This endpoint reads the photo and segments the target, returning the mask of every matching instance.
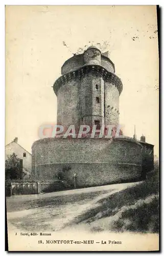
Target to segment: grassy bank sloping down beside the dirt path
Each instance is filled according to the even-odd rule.
[[[74,224],[87,223],[91,231],[156,233],[159,230],[158,184],[158,170],[154,170],[143,183],[100,200],[99,206],[78,216]]]

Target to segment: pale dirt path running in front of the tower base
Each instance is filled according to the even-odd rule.
[[[7,198],[8,225],[21,231],[61,230],[85,211],[97,207],[99,200],[138,183]]]

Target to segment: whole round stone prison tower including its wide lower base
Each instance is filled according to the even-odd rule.
[[[108,53],[91,46],[66,60],[54,83],[57,124],[101,127],[119,124],[121,79]],[[146,151],[151,149],[151,154]],[[40,181],[52,183],[64,173],[70,186],[87,187],[138,180],[149,162],[153,168],[153,145],[136,138],[45,138],[32,145],[32,171]]]

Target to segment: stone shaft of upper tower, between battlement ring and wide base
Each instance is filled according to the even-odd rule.
[[[110,82],[105,82],[104,95],[103,78],[89,73],[81,80],[68,81],[60,87],[57,108],[57,123],[66,127],[92,125],[95,120],[102,124],[104,119],[106,125],[118,124],[119,91]]]

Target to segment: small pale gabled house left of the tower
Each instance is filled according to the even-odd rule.
[[[6,159],[13,153],[15,153],[18,158],[22,159],[23,177],[28,176],[31,173],[32,155],[25,150],[24,147],[18,144],[18,138],[15,138],[5,147]]]

